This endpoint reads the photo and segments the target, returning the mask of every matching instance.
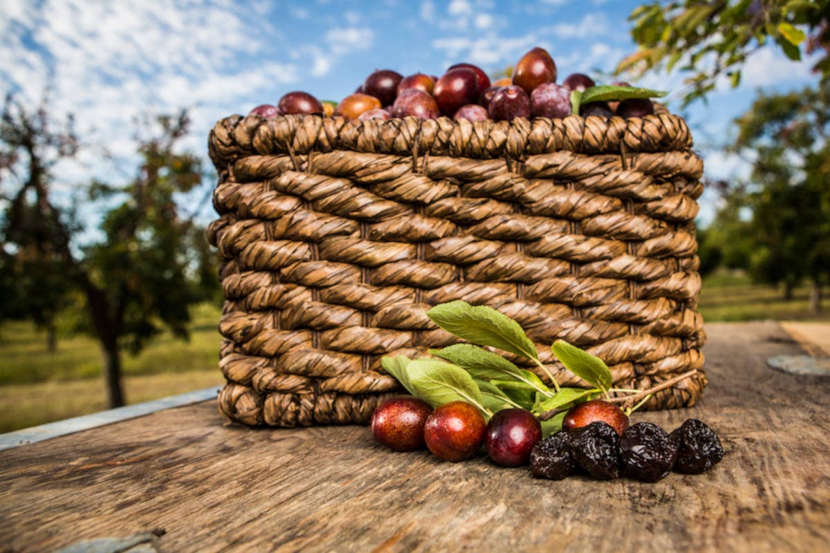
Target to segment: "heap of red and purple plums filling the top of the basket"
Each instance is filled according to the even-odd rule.
[[[376,70],[354,94],[339,104],[316,99],[306,92],[289,92],[278,104],[262,104],[251,114],[263,118],[282,114],[338,115],[345,119],[390,119],[440,115],[470,121],[511,121],[517,117],[563,118],[571,114],[571,92],[595,85],[588,75],[574,73],[556,83],[556,64],[544,48],[536,47],[515,64],[512,78],[491,83],[480,67],[469,63],[451,65],[437,77],[425,73],[403,76],[393,70]],[[613,83],[627,86],[627,83]],[[645,117],[654,113],[650,99],[622,102],[591,102],[580,106],[580,114],[611,117]]]

